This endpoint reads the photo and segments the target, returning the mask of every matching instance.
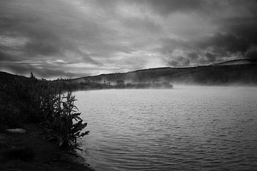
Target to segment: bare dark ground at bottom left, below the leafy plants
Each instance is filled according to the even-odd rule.
[[[28,131],[0,133],[0,170],[78,170],[92,169],[82,157],[66,150],[59,150],[53,142],[46,141],[44,129],[25,125]]]

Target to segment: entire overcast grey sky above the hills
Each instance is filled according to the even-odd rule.
[[[256,55],[256,0],[0,1],[0,71],[74,78]]]

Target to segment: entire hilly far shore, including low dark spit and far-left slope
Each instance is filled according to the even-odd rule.
[[[1,83],[10,83],[14,78],[29,79],[24,76],[0,72]],[[210,66],[150,68],[127,73],[109,73],[68,79],[63,80],[63,83],[77,88],[110,88],[117,83],[124,83],[125,85],[130,83],[170,83],[257,86],[257,63],[256,60],[244,59],[215,63]]]

